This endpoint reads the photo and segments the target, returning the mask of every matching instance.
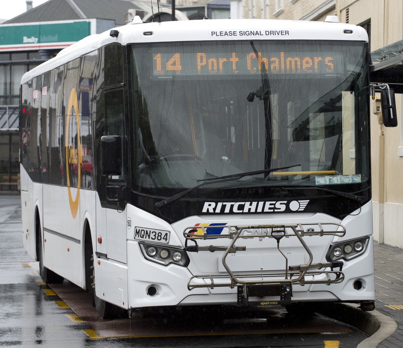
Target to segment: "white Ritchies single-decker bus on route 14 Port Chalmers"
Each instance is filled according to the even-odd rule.
[[[22,78],[23,244],[42,279],[93,289],[102,318],[372,310],[366,31],[138,22]]]

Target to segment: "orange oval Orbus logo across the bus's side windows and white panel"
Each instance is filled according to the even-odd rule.
[[[74,108],[74,116],[76,119],[76,127],[77,127],[77,136],[75,132],[73,133],[73,119],[71,120],[72,125],[70,125],[70,117],[73,116],[73,109]],[[70,93],[69,98],[69,107],[67,108],[67,115],[66,115],[66,175],[67,175],[67,188],[69,190],[69,203],[70,203],[70,210],[71,216],[73,219],[77,216],[78,210],[78,202],[80,199],[80,186],[81,186],[81,161],[83,157],[83,152],[81,150],[81,143],[80,143],[80,121],[79,121],[79,108],[78,108],[78,99],[77,99],[77,92],[73,88]],[[71,127],[71,128],[70,128]],[[71,132],[69,133],[69,129]],[[72,176],[70,177],[70,172]],[[70,181],[74,184],[77,182],[77,193],[75,200],[73,200],[73,196],[71,194],[71,185]]]

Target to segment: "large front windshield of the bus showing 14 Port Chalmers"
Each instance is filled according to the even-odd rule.
[[[369,178],[367,45],[346,41],[133,44],[133,184],[357,188]]]

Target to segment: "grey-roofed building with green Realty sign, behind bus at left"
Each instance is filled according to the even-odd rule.
[[[161,19],[170,21],[172,0],[161,0]],[[156,5],[156,4],[154,4]],[[181,6],[182,5],[182,6]],[[184,7],[183,5],[187,5]],[[154,13],[157,15],[156,6]],[[229,0],[177,0],[177,20],[229,18]],[[19,190],[19,92],[27,71],[88,35],[151,20],[150,1],[49,0],[0,24],[0,192]],[[30,134],[23,134],[29,142]]]

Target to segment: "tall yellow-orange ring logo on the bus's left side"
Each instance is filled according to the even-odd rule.
[[[70,124],[70,114],[71,108],[74,108],[75,118],[77,121],[77,148],[73,148],[72,144],[69,144],[69,124]],[[78,114],[78,99],[77,99],[77,92],[73,88],[70,93],[69,98],[69,107],[67,108],[67,120],[66,120],[66,175],[67,175],[67,188],[69,190],[69,203],[70,203],[70,210],[73,219],[77,216],[78,210],[78,203],[80,199],[80,186],[81,186],[81,161],[83,158],[83,152],[81,150],[81,143],[80,143],[80,121],[79,121],[79,114]],[[71,188],[70,188],[70,165],[73,167],[76,166],[77,168],[77,194],[75,200],[71,196]]]

